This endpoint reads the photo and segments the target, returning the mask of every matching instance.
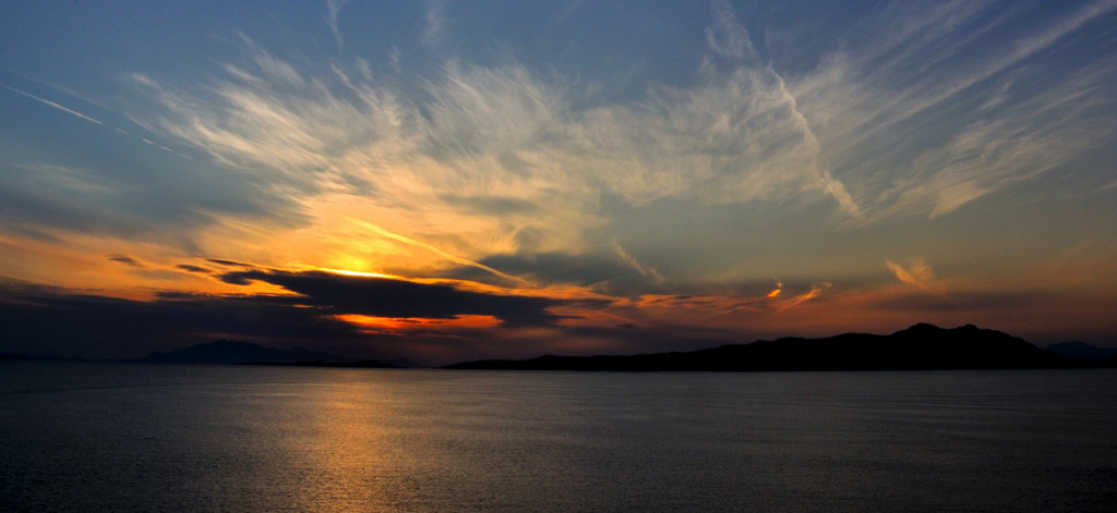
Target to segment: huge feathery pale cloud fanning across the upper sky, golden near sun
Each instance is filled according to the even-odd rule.
[[[317,225],[299,240],[332,238],[331,251],[353,252],[352,261],[381,254],[344,248],[341,226],[356,225],[337,205],[469,262],[614,253],[657,281],[677,271],[646,252],[653,240],[626,236],[618,252],[618,212],[755,204],[780,214],[829,204],[819,222],[853,226],[943,216],[1105,141],[1113,128],[1090,108],[1111,103],[1102,94],[1111,67],[1051,83],[1016,67],[1109,12],[1109,3],[1090,6],[1016,46],[982,39],[1011,10],[894,7],[895,23],[866,27],[868,42],[836,45],[818,67],[787,74],[761,61],[733,8],[716,2],[695,75],[627,100],[513,58],[450,59],[409,83],[383,79],[363,60],[332,62],[322,75],[246,40],[241,58],[204,81],[134,76],[154,106],[133,118],[314,212]],[[445,8],[427,7],[433,42]],[[975,32],[960,38],[962,27]],[[971,50],[1001,71],[978,69]],[[911,62],[926,65],[923,77],[909,76]],[[393,258],[384,265],[398,269],[403,256]],[[422,262],[432,275],[460,264]]]

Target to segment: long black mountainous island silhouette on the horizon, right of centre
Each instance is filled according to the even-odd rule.
[[[782,338],[690,352],[634,356],[479,360],[450,369],[608,371],[930,370],[1071,367],[1060,356],[1000,331],[972,325],[943,329],[915,325],[892,335],[846,333]]]

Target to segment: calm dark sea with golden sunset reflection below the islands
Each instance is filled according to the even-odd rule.
[[[0,364],[3,511],[1115,511],[1117,371]]]

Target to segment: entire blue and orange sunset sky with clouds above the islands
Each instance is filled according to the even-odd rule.
[[[0,352],[1113,347],[1114,84],[1114,0],[0,0]]]

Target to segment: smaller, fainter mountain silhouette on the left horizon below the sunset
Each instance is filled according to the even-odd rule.
[[[275,349],[249,342],[218,340],[175,349],[170,352],[152,352],[140,361],[153,364],[258,364],[258,365],[309,365],[353,364],[344,357],[309,349]]]

